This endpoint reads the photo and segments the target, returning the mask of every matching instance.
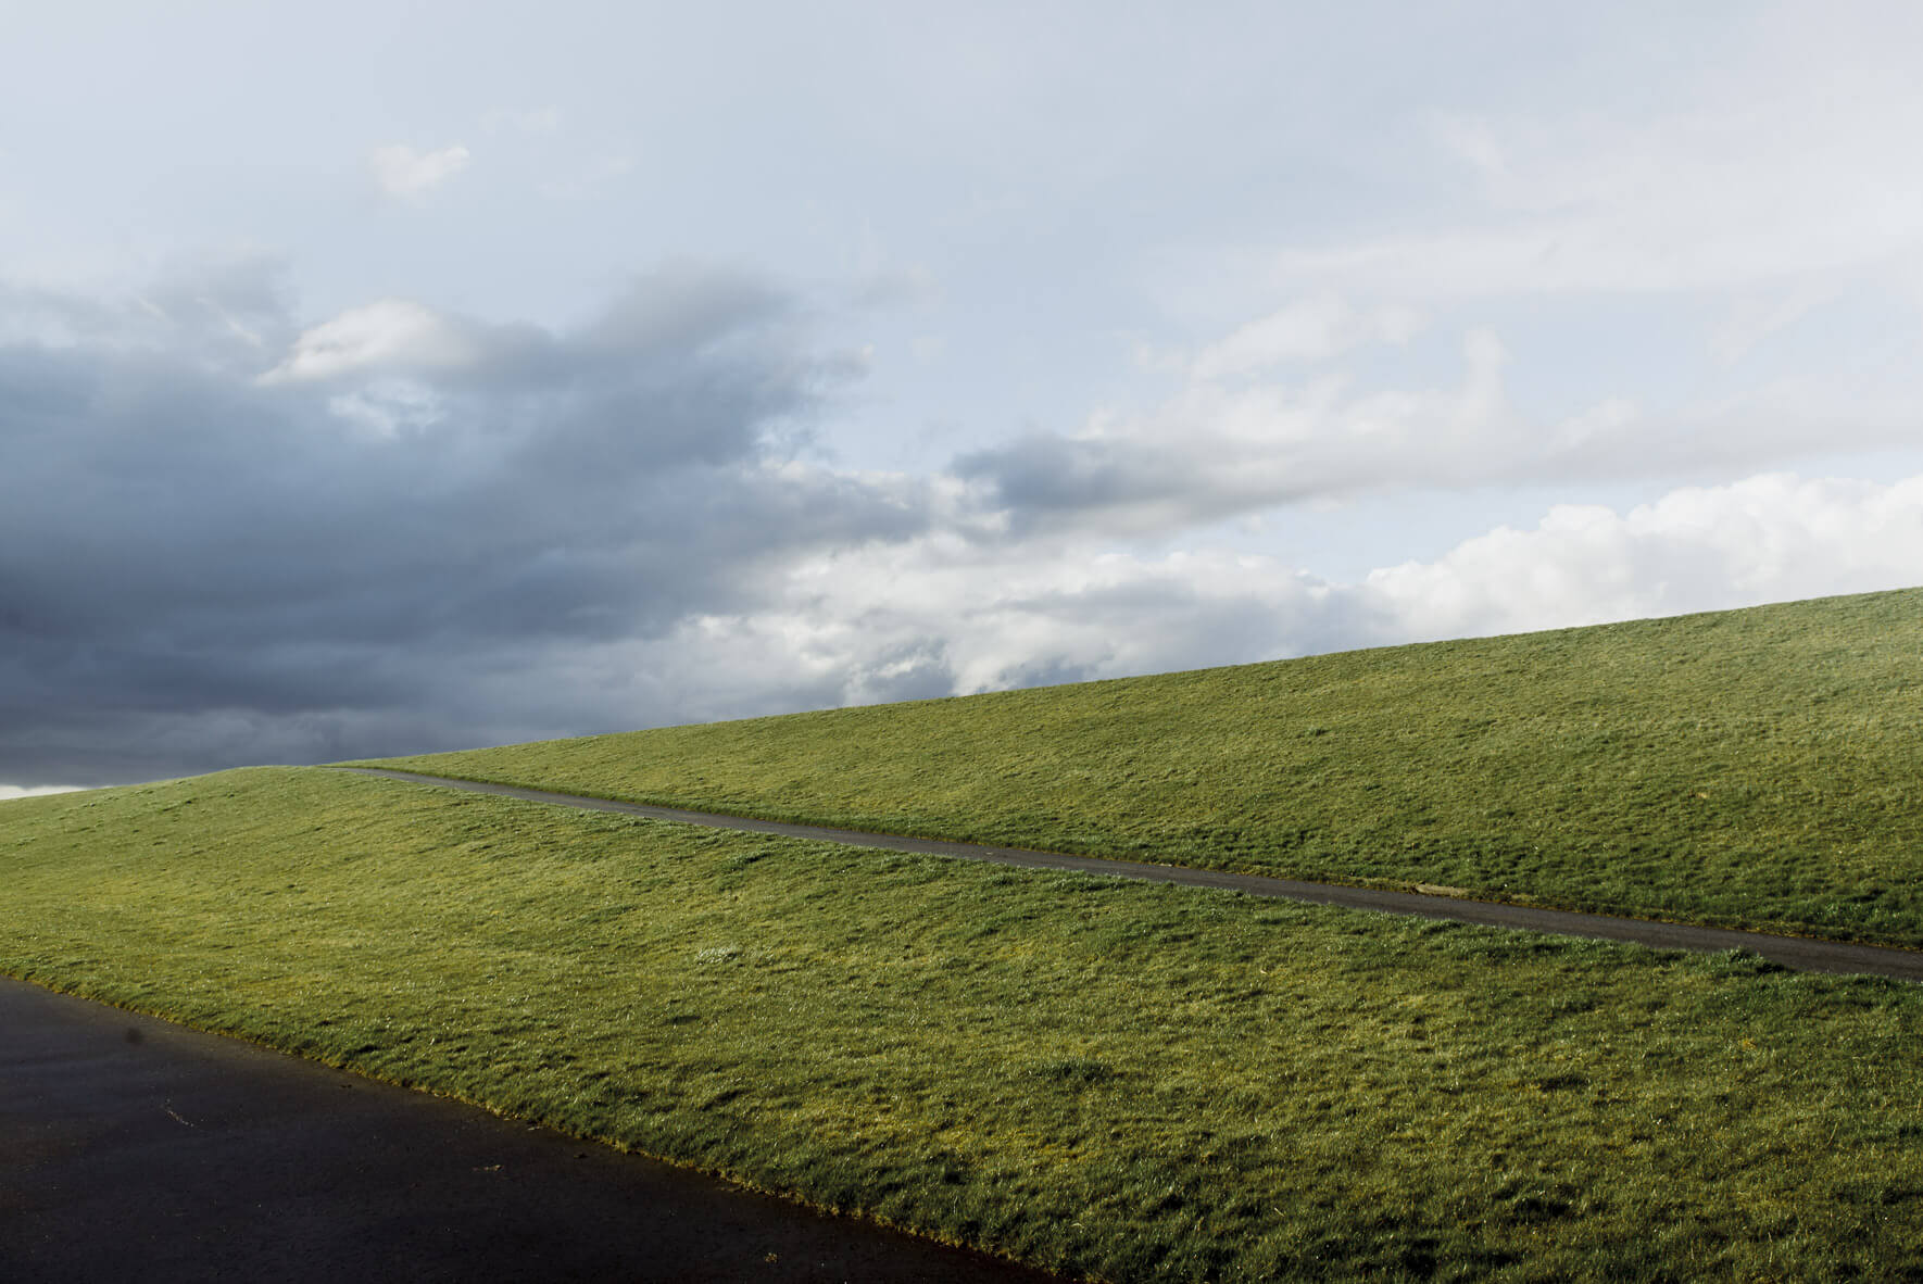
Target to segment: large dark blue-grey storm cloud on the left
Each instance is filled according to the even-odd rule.
[[[737,275],[637,281],[569,333],[435,319],[438,348],[310,373],[260,265],[0,306],[10,784],[625,725],[648,711],[546,661],[923,521],[787,459],[844,371]]]

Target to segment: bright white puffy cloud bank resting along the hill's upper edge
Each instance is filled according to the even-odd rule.
[[[1275,557],[1140,556],[1085,540],[954,534],[796,563],[777,602],[688,619],[623,663],[708,686],[696,717],[1244,663],[1923,582],[1923,477],[1760,475],[1654,504],[1556,507],[1435,561],[1327,582]],[[731,675],[717,686],[713,675]]]

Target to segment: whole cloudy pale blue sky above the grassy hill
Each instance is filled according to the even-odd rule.
[[[0,29],[0,798],[1923,582],[1913,4]]]

